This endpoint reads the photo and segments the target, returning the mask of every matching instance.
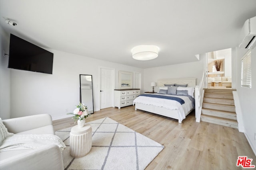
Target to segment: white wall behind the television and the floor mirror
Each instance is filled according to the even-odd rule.
[[[54,53],[52,74],[11,69],[11,117],[40,113],[49,113],[52,117],[58,117],[66,115],[66,109],[72,112],[79,102],[79,74],[92,75],[94,111],[98,111],[100,110],[100,66],[115,68],[116,88],[118,88],[119,70],[143,74],[141,68],[47,50]]]

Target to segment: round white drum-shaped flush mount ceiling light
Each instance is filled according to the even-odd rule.
[[[152,60],[158,57],[156,45],[138,45],[132,49],[132,58],[135,60]]]

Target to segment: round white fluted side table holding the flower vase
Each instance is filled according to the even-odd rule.
[[[73,158],[80,158],[88,154],[92,148],[92,127],[90,124],[84,124],[84,127],[78,125],[72,127],[70,131],[70,155]]]

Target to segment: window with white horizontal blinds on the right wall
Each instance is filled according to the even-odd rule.
[[[242,58],[241,86],[248,88],[252,87],[251,51],[248,51]]]

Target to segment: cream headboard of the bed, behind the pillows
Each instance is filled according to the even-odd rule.
[[[195,87],[196,78],[169,78],[158,80],[158,86],[164,86],[164,84],[188,84],[189,87]]]

